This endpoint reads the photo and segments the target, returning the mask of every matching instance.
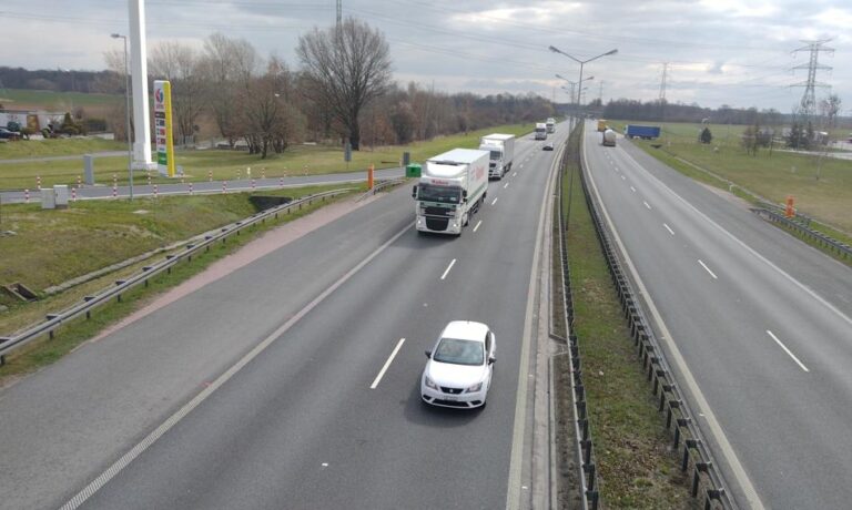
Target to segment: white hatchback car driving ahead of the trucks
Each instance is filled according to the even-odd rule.
[[[485,406],[494,371],[494,333],[481,323],[454,320],[426,351],[420,378],[423,401],[473,409]]]

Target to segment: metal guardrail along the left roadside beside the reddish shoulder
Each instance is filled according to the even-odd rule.
[[[257,223],[265,223],[270,217],[277,218],[278,214],[288,214],[291,211],[301,210],[303,206],[311,205],[315,201],[325,201],[328,197],[348,193],[352,190],[353,188],[351,187],[346,187],[305,196],[304,198],[271,207],[266,211],[253,214],[245,220],[225,225],[219,228],[217,234],[206,234],[204,235],[204,239],[200,243],[187,244],[186,249],[183,253],[176,255],[166,255],[163,261],[150,266],[144,266],[140,273],[136,273],[126,279],[116,280],[115,286],[106,288],[100,294],[85,296],[83,297],[82,302],[71,306],[70,308],[55,314],[48,314],[43,322],[28,327],[18,335],[11,337],[0,337],[0,365],[6,361],[6,355],[10,351],[22,347],[43,335],[49,335],[50,338],[53,338],[55,329],[62,326],[63,323],[67,323],[81,315],[85,315],[85,318],[89,318],[95,307],[106,304],[112,298],[121,302],[121,295],[123,293],[134,288],[138,285],[148,286],[149,279],[162,272],[171,274],[172,267],[184,258],[187,262],[192,261],[193,255],[200,253],[202,249],[209,251],[210,246],[219,241],[224,243],[232,234],[240,235],[240,231],[245,227],[255,225]]]

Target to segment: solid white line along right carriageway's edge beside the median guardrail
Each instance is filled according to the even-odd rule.
[[[582,161],[586,164],[586,167],[588,169],[589,166],[588,166],[588,161],[586,160],[586,151],[581,151],[581,152],[582,152]],[[630,154],[628,154],[627,152],[623,152],[623,154],[630,157]],[[630,159],[632,160],[632,157]],[[639,163],[636,162],[636,160],[632,160],[632,161],[636,167],[642,170],[642,166],[639,165]],[[733,476],[737,478],[737,481],[739,482],[746,496],[748,504],[755,510],[764,509],[765,507],[763,507],[763,502],[760,500],[760,496],[758,496],[757,489],[754,489],[754,486],[751,483],[751,478],[749,478],[749,475],[746,472],[746,468],[743,468],[742,462],[740,462],[740,459],[737,456],[737,452],[734,451],[733,446],[731,446],[730,441],[728,441],[728,437],[726,437],[724,430],[722,430],[722,426],[719,424],[719,420],[716,418],[716,414],[710,408],[710,404],[707,401],[707,398],[704,397],[703,391],[701,391],[701,388],[698,386],[698,381],[692,375],[692,371],[689,369],[689,366],[687,365],[687,360],[683,358],[683,354],[680,351],[680,348],[678,347],[678,345],[673,341],[671,332],[669,332],[668,326],[662,320],[662,315],[660,315],[660,310],[657,308],[657,305],[651,298],[651,295],[648,293],[648,288],[645,286],[645,282],[642,280],[641,276],[639,276],[639,272],[633,265],[632,258],[630,258],[630,255],[627,253],[627,248],[625,247],[625,244],[621,241],[621,236],[618,235],[618,231],[616,230],[615,224],[612,223],[612,218],[609,217],[609,212],[607,211],[607,207],[604,205],[604,201],[600,196],[600,192],[598,191],[598,185],[595,183],[594,172],[589,172],[589,182],[591,183],[591,190],[594,191],[595,195],[598,197],[598,203],[601,205],[601,213],[604,214],[604,217],[607,221],[607,224],[609,225],[610,232],[612,233],[612,238],[618,245],[621,255],[625,257],[625,264],[627,264],[631,274],[636,278],[636,285],[639,287],[639,293],[641,296],[643,296],[643,299],[648,304],[648,308],[651,312],[651,316],[660,327],[660,333],[662,334],[660,340],[665,341],[666,345],[668,346],[669,351],[671,353],[671,357],[673,358],[672,361],[679,368],[683,377],[683,382],[687,386],[687,389],[692,394],[692,397],[696,399],[696,404],[698,405],[697,411],[702,414],[704,419],[707,420],[707,426],[710,429],[710,434],[713,436],[713,439],[716,439],[716,441],[719,443],[719,449],[721,450],[721,455],[724,458],[724,460],[728,462],[728,465],[731,467],[731,470],[733,471]],[[683,198],[681,198],[681,201],[683,201]],[[683,202],[689,204],[686,201]],[[696,210],[694,207],[692,208]],[[696,212],[698,212],[698,210],[696,210]],[[701,214],[700,212],[698,213]]]

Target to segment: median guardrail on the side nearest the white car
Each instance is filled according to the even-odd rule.
[[[575,128],[577,129],[577,128]],[[574,136],[574,133],[569,135]],[[559,256],[561,258],[561,276],[562,276],[562,320],[568,332],[568,350],[557,354],[568,356],[568,366],[571,371],[571,400],[574,404],[575,420],[574,420],[574,436],[577,451],[577,466],[579,468],[578,479],[580,480],[580,498],[584,509],[597,510],[600,500],[600,491],[598,490],[599,480],[597,465],[595,462],[594,445],[591,442],[591,431],[589,424],[589,416],[586,405],[586,386],[582,382],[582,369],[580,368],[580,351],[577,344],[577,335],[572,333],[574,329],[574,298],[571,295],[570,284],[570,266],[568,264],[568,252],[566,241],[566,217],[565,217],[565,194],[562,193],[562,174],[568,162],[570,151],[566,147],[562,151],[562,159],[559,163]],[[576,156],[576,154],[575,154]],[[574,176],[571,176],[574,178]],[[552,358],[551,358],[552,359]],[[551,367],[552,371],[552,367]]]

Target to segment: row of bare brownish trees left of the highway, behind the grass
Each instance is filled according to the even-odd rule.
[[[123,93],[121,50],[104,54],[112,71],[98,86]],[[541,121],[554,105],[535,95],[446,93],[418,83],[393,81],[389,47],[365,22],[315,28],[300,38],[298,68],[277,55],[261,55],[245,39],[213,33],[199,50],[179,41],[153,44],[151,81],[172,83],[178,142],[191,141],[199,124],[215,125],[234,146],[266,157],[305,141],[364,145],[405,144],[503,123]],[[110,124],[116,135],[123,105]]]

